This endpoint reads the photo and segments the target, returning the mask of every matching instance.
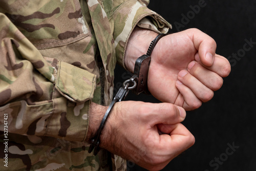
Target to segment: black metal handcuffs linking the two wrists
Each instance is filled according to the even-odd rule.
[[[151,62],[151,53],[155,48],[158,40],[165,35],[166,34],[163,33],[159,34],[154,40],[152,40],[150,47],[148,47],[146,55],[142,55],[136,60],[133,76],[130,79],[127,79],[123,82],[122,87],[118,90],[114,99],[110,103],[110,106],[108,110],[106,110],[106,113],[100,123],[99,129],[96,132],[96,135],[91,139],[91,145],[88,150],[89,153],[91,153],[94,149],[93,155],[96,156],[99,152],[101,131],[104,127],[106,119],[108,118],[114,104],[117,101],[122,101],[127,96],[130,90],[132,90],[133,93],[135,93],[136,95],[139,95],[140,93],[150,94],[150,92],[147,89],[147,74]],[[129,87],[130,85],[131,87]]]

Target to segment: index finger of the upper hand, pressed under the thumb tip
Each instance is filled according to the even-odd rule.
[[[195,59],[198,63],[200,63],[203,67],[205,67],[206,69],[217,73],[218,75],[220,75],[221,77],[227,77],[231,71],[231,66],[229,61],[218,54],[215,54],[215,60],[214,63],[212,64],[212,66],[205,66],[202,61],[200,60],[199,54],[197,53],[195,55]]]

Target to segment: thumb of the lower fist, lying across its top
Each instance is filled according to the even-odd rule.
[[[159,123],[175,124],[182,122],[186,117],[186,112],[180,106],[171,103],[147,103],[144,106],[144,112],[148,112],[148,122],[152,125]],[[148,111],[149,110],[149,111]],[[142,113],[144,113],[142,111]]]

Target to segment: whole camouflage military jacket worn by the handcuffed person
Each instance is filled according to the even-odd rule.
[[[0,170],[125,170],[88,153],[90,102],[108,105],[137,25],[167,32],[148,0],[0,1]]]

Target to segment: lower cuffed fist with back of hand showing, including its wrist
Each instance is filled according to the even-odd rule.
[[[88,138],[96,133],[105,110],[91,104]],[[100,147],[146,169],[160,170],[195,142],[180,123],[185,116],[184,109],[170,103],[117,102],[102,130]]]

